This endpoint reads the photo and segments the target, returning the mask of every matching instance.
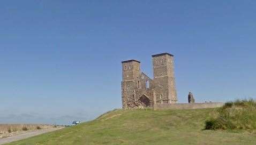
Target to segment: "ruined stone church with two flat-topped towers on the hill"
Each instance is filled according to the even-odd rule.
[[[153,107],[155,103],[177,103],[174,55],[152,55],[154,78],[140,71],[137,60],[122,61],[123,109]]]

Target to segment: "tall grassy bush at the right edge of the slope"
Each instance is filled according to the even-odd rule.
[[[256,129],[256,102],[253,99],[227,102],[218,112],[217,118],[205,122],[206,130]]]

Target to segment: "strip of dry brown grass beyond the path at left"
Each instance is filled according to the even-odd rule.
[[[0,124],[0,134],[22,131],[22,128],[27,128],[28,130],[38,130],[38,128],[52,128],[54,125],[49,124]]]

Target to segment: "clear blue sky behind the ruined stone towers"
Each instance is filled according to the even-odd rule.
[[[121,61],[175,55],[180,103],[254,98],[256,1],[1,1],[0,123],[121,108]]]

